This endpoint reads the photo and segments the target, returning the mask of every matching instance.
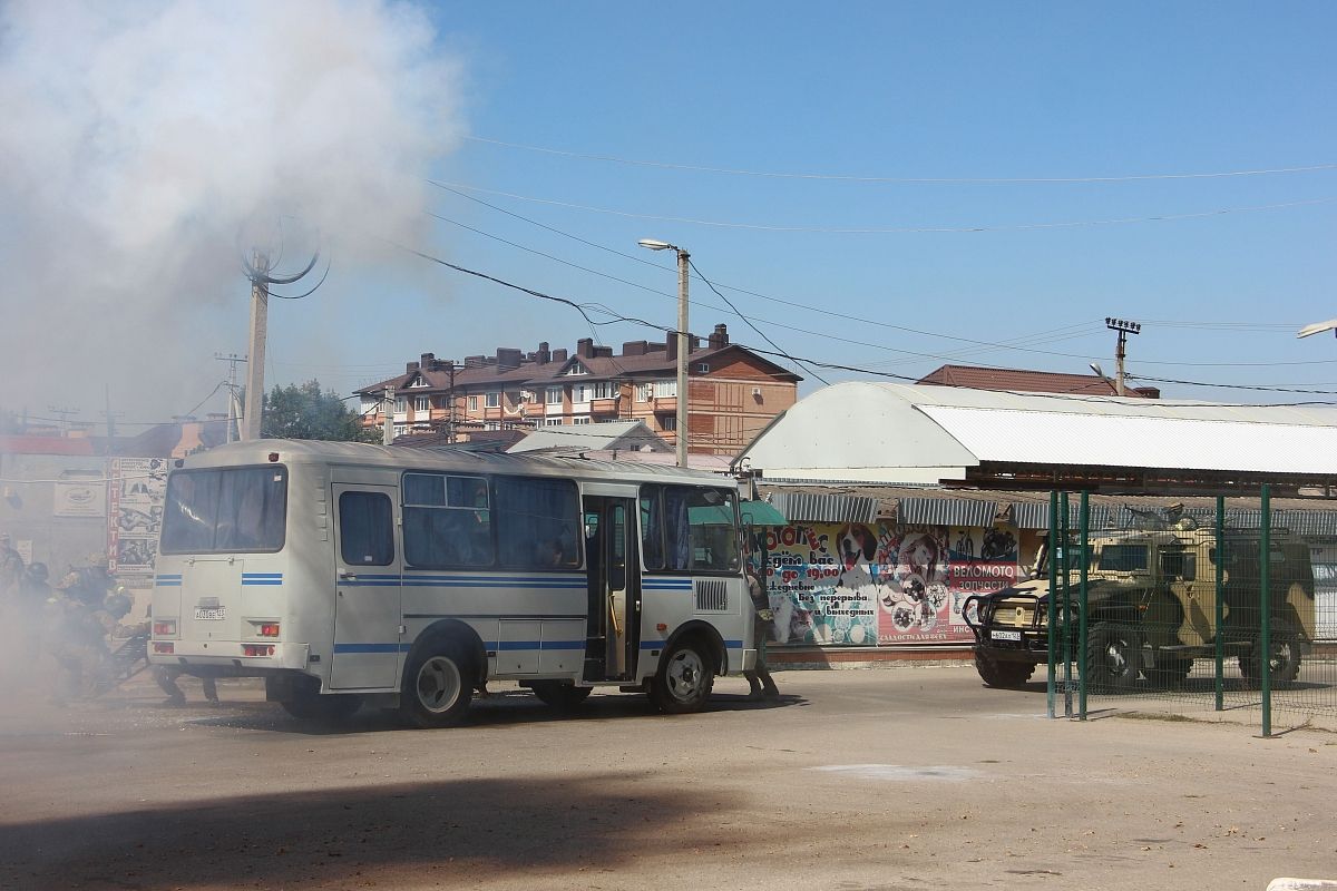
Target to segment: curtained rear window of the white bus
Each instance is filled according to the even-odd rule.
[[[283,546],[287,470],[176,470],[167,478],[162,553],[273,552]]]

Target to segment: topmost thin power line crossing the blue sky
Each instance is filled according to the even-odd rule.
[[[1271,167],[1262,170],[1231,170],[1206,174],[1132,174],[1124,176],[862,176],[852,174],[810,174],[810,172],[777,172],[762,170],[739,170],[733,167],[707,167],[702,164],[677,164],[659,160],[642,160],[634,158],[618,158],[615,155],[592,155],[560,148],[547,148],[543,146],[527,146],[523,143],[503,142],[485,136],[464,136],[464,139],[488,146],[501,146],[504,148],[520,148],[524,151],[540,152],[544,155],[560,155],[563,158],[579,158],[583,160],[599,160],[615,164],[630,164],[635,167],[658,167],[662,170],[686,170],[702,174],[727,174],[731,176],[762,176],[767,179],[820,179],[856,183],[908,183],[908,184],[1017,184],[1017,183],[1127,183],[1162,179],[1226,179],[1241,176],[1273,176],[1278,174],[1310,174],[1316,171],[1337,170],[1337,164],[1309,164],[1304,167]]]

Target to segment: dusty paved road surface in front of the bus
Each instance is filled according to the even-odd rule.
[[[0,695],[4,888],[1251,888],[1337,878],[1337,735],[1103,715],[971,668],[723,679],[701,715],[519,689],[322,732],[221,684]],[[183,681],[191,685],[193,681]],[[198,685],[187,692],[199,696]]]

